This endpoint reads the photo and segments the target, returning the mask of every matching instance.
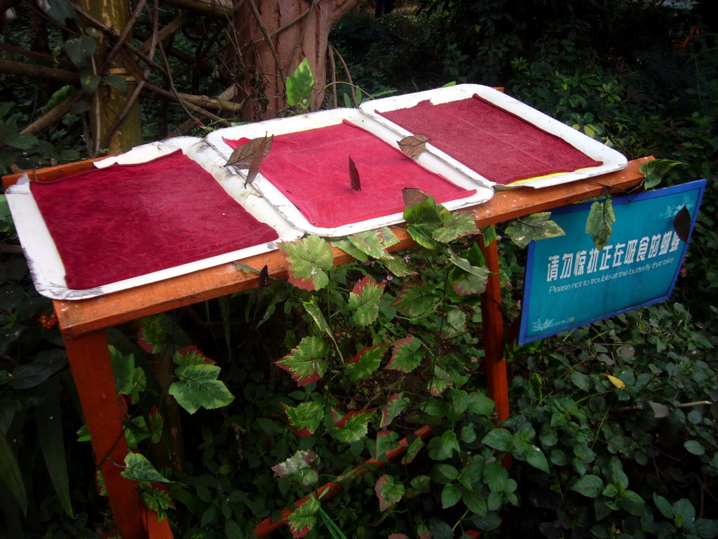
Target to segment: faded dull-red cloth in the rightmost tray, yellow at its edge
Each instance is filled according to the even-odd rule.
[[[477,95],[437,105],[426,100],[379,114],[411,133],[425,134],[435,147],[502,185],[602,165]]]

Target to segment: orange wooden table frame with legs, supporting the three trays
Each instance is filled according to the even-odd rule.
[[[590,180],[540,190],[518,188],[500,191],[490,201],[475,206],[471,211],[477,226],[483,227],[583,201],[606,192],[634,188],[643,179],[640,165],[650,159],[644,157],[633,160],[625,170]],[[37,170],[34,175],[41,181],[52,180],[91,167],[91,162],[85,161]],[[9,175],[3,178],[3,183],[7,187],[18,178],[19,175]],[[391,250],[404,249],[414,244],[406,231],[397,231],[397,236],[400,241]],[[333,249],[333,254],[335,265],[353,260],[340,249]],[[482,297],[485,369],[489,394],[496,402],[498,420],[504,420],[508,417],[509,401],[503,357],[505,343],[498,282],[498,248],[495,241],[485,249],[485,259],[489,270],[493,272]],[[241,262],[256,268],[266,264],[269,275],[286,279],[287,264],[281,252],[258,254]],[[172,538],[172,532],[167,520],[158,523],[157,515],[146,510],[136,490],[136,483],[120,475],[127,454],[122,424],[124,409],[116,394],[104,330],[147,315],[250,290],[257,284],[256,273],[238,271],[235,264],[229,263],[100,298],[53,302],[70,369],[80,395],[80,404],[88,423],[95,459],[102,471],[111,509],[123,538],[169,539]]]

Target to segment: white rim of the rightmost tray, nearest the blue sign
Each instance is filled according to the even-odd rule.
[[[547,133],[556,135],[556,137],[568,142],[574,148],[584,152],[584,154],[588,155],[593,160],[603,162],[603,165],[597,167],[577,170],[574,172],[562,172],[560,174],[543,176],[540,178],[519,180],[518,182],[514,182],[509,185],[500,185],[484,178],[478,172],[475,172],[475,170],[470,169],[466,165],[463,165],[455,160],[453,157],[447,155],[445,152],[442,152],[442,150],[432,146],[431,143],[426,144],[426,149],[428,151],[424,152],[425,154],[431,153],[432,155],[436,155],[477,182],[482,182],[486,185],[493,185],[496,190],[519,187],[541,188],[592,178],[593,176],[607,174],[607,172],[622,170],[628,166],[628,160],[625,156],[621,155],[615,149],[609,148],[605,144],[602,144],[582,132],[573,129],[571,126],[562,124],[560,121],[551,118],[551,116],[547,116],[543,112],[539,112],[531,106],[526,105],[526,103],[521,103],[521,101],[517,101],[513,97],[509,97],[505,93],[495,90],[495,88],[490,88],[489,86],[481,86],[479,84],[459,84],[457,86],[447,86],[446,88],[436,88],[434,90],[409,93],[404,96],[393,96],[376,99],[375,101],[365,101],[364,103],[361,103],[359,108],[370,118],[378,121],[383,126],[398,132],[401,134],[401,137],[406,137],[414,133],[411,133],[403,127],[394,124],[393,121],[389,121],[378,113],[395,111],[397,109],[409,109],[410,107],[415,106],[421,101],[426,101],[427,99],[432,104],[437,105],[439,103],[449,103],[450,101],[460,101],[462,99],[470,98],[474,94],[490,101],[500,109],[516,114],[516,116],[521,117],[539,129],[543,129]]]

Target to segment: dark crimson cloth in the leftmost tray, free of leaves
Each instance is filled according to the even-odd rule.
[[[279,237],[181,151],[30,188],[75,290]]]

